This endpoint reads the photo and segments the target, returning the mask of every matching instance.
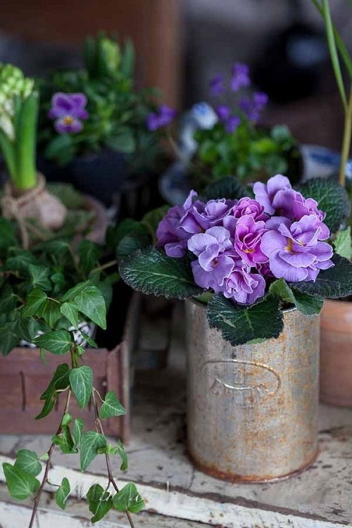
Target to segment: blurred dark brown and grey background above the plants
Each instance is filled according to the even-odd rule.
[[[332,3],[351,50],[350,8]],[[242,61],[270,97],[266,124],[287,122],[299,141],[339,149],[341,104],[310,0],[4,0],[0,61],[27,75],[80,65],[82,40],[102,29],[132,38],[138,84],[161,87],[170,106],[206,100],[209,78]]]

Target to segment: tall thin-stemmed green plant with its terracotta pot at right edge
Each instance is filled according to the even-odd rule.
[[[344,108],[345,120],[339,182],[348,189],[351,199],[351,182],[346,181],[346,163],[351,151],[352,59],[332,22],[329,1],[313,0],[313,4],[315,4],[325,21],[332,68]],[[349,83],[348,88],[345,87],[343,68]],[[349,223],[350,227],[347,227],[337,236],[334,244],[341,245],[344,256],[351,260],[351,218]],[[344,227],[346,225],[347,222]],[[347,300],[329,300],[325,303],[322,312],[320,397],[322,401],[332,405],[352,406],[351,317],[351,298]]]

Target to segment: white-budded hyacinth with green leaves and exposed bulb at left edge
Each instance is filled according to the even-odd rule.
[[[9,175],[1,209],[5,218],[18,220],[25,246],[27,220],[57,229],[66,215],[65,206],[47,191],[36,168],[38,97],[34,82],[19,68],[0,65],[0,149]]]

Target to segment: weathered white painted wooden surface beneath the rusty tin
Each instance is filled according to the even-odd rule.
[[[130,461],[127,474],[119,473],[118,460],[115,463],[120,484],[125,479],[137,482],[146,499],[147,510],[165,515],[165,523],[171,517],[175,518],[175,523],[187,520],[225,528],[352,526],[352,410],[320,406],[320,454],[315,464],[298,477],[272,484],[229,484],[194,469],[184,449],[183,329],[182,311],[177,310],[170,368],[137,373],[133,391],[132,439],[127,446]],[[145,331],[148,333],[158,341],[155,339],[156,334],[161,335],[158,323],[149,326]],[[23,447],[44,453],[49,441],[48,436],[2,435],[1,460],[6,456],[13,458],[18,448]],[[88,474],[79,471],[75,455],[56,453],[54,464],[51,482],[61,482],[65,476],[70,479],[71,487],[76,482],[81,491],[87,491],[96,479],[106,482],[105,477],[101,477],[105,474],[102,456],[96,457]],[[4,522],[1,524],[1,508],[10,515],[8,510],[13,507],[4,504],[0,507],[0,526],[17,528],[16,524],[9,527]],[[70,513],[69,506],[66,512]],[[74,519],[74,513],[72,515]],[[84,515],[87,517],[87,511]],[[134,517],[138,519],[138,515]],[[25,524],[18,524],[18,527],[22,526]],[[81,528],[85,524],[78,526]],[[165,524],[165,528],[169,526],[178,527],[172,522]],[[71,525],[67,524],[67,527],[71,528]],[[72,524],[72,527],[76,528],[76,525]],[[180,528],[183,528],[182,524]]]

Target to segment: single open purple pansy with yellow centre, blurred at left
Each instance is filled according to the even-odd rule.
[[[83,128],[82,120],[89,117],[85,109],[87,97],[84,94],[63,94],[58,92],[51,99],[49,118],[56,119],[54,127],[59,134],[75,134]]]

